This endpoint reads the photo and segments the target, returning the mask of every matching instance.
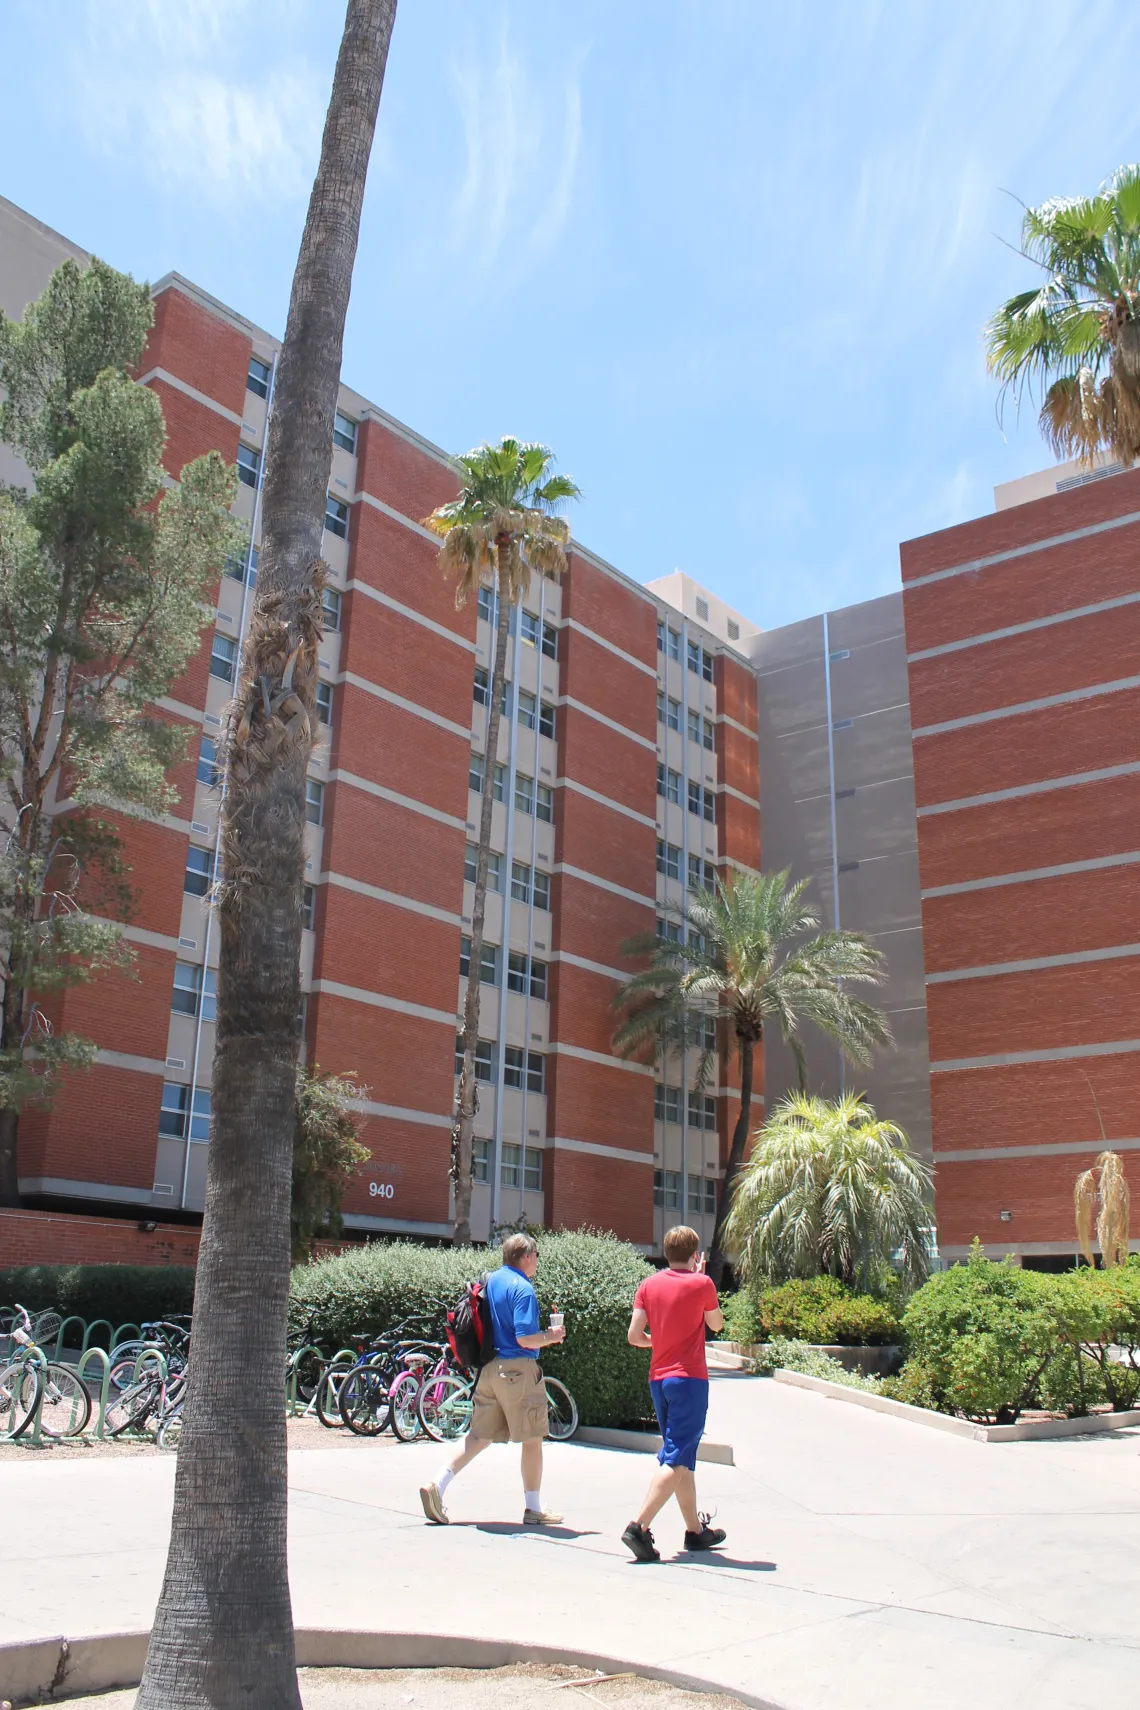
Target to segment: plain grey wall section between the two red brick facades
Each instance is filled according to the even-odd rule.
[[[902,595],[848,605],[759,636],[761,840],[764,870],[812,879],[826,927],[865,932],[887,958],[867,995],[890,1017],[896,1052],[841,1070],[837,1050],[805,1036],[808,1084],[865,1091],[930,1158],[930,1058],[918,884],[914,763]],[[832,829],[834,828],[834,829]],[[767,1108],[795,1088],[791,1053],[764,1050]]]

